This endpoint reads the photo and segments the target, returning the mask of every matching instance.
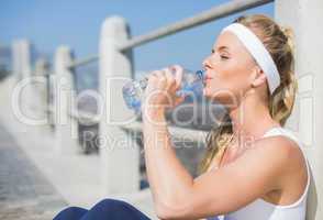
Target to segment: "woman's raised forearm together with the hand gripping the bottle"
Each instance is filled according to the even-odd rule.
[[[176,106],[182,101],[182,98],[174,99],[179,87],[180,74],[176,81],[169,72],[157,72],[149,77],[145,91],[146,101],[143,107],[145,162],[157,215],[163,213],[164,208],[169,204],[185,199],[187,190],[193,184],[193,178],[175,154],[165,119],[166,106]]]

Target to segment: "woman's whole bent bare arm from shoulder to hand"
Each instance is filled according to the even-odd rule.
[[[290,173],[288,163],[301,154],[281,136],[257,141],[215,172],[190,176],[176,157],[164,116],[164,107],[177,102],[178,86],[171,76],[160,72],[151,76],[143,107],[146,169],[158,217],[187,220],[226,213],[279,189]]]

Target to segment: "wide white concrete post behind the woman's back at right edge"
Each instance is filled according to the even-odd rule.
[[[296,38],[296,74],[299,79],[297,106],[288,125],[304,143],[312,167],[312,185],[308,199],[309,220],[323,219],[323,1],[276,0],[275,18],[293,29]]]

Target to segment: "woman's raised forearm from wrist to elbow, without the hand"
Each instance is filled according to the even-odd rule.
[[[164,112],[147,112],[143,122],[147,177],[160,217],[169,205],[187,197],[193,178],[175,154]]]

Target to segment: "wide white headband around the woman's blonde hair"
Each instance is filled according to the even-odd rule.
[[[231,31],[234,33],[245,45],[245,47],[266,74],[269,90],[270,94],[272,94],[274,90],[280,85],[280,76],[270,54],[261,41],[248,28],[240,23],[230,24],[222,30],[222,32],[224,31]]]

